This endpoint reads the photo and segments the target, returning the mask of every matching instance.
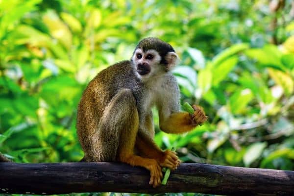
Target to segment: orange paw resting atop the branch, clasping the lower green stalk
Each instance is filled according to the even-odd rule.
[[[164,155],[159,161],[161,167],[166,167],[171,170],[175,170],[180,164],[181,161],[177,157],[176,152],[172,150],[164,151]]]

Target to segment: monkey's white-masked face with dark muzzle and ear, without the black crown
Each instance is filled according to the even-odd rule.
[[[168,52],[162,57],[155,49],[144,51],[141,48],[137,48],[132,57],[137,73],[144,79],[167,73],[174,67],[177,60],[178,56],[175,52]]]

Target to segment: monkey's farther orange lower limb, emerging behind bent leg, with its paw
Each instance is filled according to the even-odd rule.
[[[180,160],[172,150],[161,150],[142,130],[138,132],[136,138],[136,149],[144,157],[155,159],[161,167],[175,170],[180,165]]]

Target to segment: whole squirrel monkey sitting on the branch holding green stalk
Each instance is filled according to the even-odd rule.
[[[207,120],[203,109],[180,112],[179,88],[171,70],[178,56],[158,38],[140,41],[131,60],[116,63],[85,89],[77,110],[77,135],[84,161],[118,161],[150,171],[149,184],[161,183],[161,167],[176,169],[175,152],[153,141],[151,107],[159,111],[160,129],[184,133]]]

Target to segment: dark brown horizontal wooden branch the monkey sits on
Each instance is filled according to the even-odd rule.
[[[293,196],[294,172],[182,164],[166,186],[152,188],[149,172],[119,163],[0,163],[0,193],[179,193]]]

